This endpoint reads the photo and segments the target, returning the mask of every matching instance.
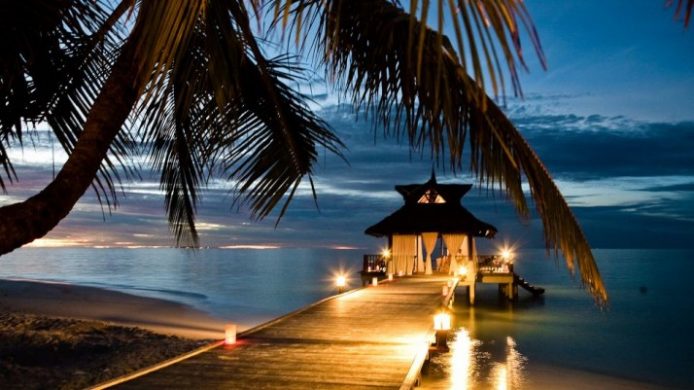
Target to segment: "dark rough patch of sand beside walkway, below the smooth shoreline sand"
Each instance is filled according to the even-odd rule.
[[[82,389],[207,344],[101,321],[0,313],[0,389]]]

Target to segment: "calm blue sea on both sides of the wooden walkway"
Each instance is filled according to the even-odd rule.
[[[610,296],[605,310],[568,275],[561,260],[546,257],[543,250],[521,251],[516,260],[517,273],[546,288],[541,299],[519,290],[518,302],[509,304],[495,286],[486,286],[469,307],[461,294],[455,303],[453,349],[466,352],[452,363],[467,364],[464,381],[485,385],[484,377],[496,375],[494,370],[505,362],[502,368],[508,371],[555,366],[694,388],[694,251],[594,253]],[[250,325],[333,294],[338,272],[347,272],[350,285],[358,286],[361,254],[29,248],[0,257],[0,278],[68,282],[175,300]]]

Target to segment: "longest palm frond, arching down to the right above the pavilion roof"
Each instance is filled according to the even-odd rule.
[[[571,271],[577,265],[583,284],[604,303],[590,246],[564,198],[521,134],[460,65],[449,40],[428,28],[410,34],[413,23],[416,31],[422,25],[389,1],[334,4],[321,19],[321,43],[354,104],[372,110],[386,132],[404,132],[413,148],[428,146],[439,161],[447,155],[454,171],[462,168],[468,141],[473,173],[487,186],[504,188],[524,217],[529,209],[521,183],[527,177],[548,248],[561,250]],[[421,56],[408,54],[414,45],[408,39],[417,40]]]

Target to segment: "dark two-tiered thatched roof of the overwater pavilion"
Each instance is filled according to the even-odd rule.
[[[424,184],[395,186],[405,205],[365,233],[376,237],[423,232],[465,233],[491,238],[496,228],[475,218],[460,204],[471,187],[470,184],[439,184],[433,173]]]

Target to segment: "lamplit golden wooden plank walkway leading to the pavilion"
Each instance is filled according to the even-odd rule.
[[[447,281],[403,278],[346,293],[118,388],[400,388],[428,348]]]

